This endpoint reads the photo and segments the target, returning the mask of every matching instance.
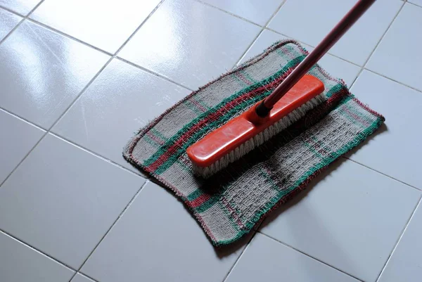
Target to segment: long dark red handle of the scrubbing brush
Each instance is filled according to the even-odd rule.
[[[359,0],[357,4],[335,25],[333,30],[315,47],[314,51],[302,60],[293,72],[281,82],[279,86],[267,98],[256,107],[257,115],[268,115],[274,104],[280,100],[296,82],[301,79],[318,60],[340,39],[347,30],[368,10],[375,0]]]

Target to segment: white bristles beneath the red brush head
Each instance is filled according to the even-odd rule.
[[[323,103],[325,101],[324,94],[320,94],[316,96],[312,100],[307,101],[307,103],[301,105],[299,108],[296,108],[291,113],[283,117],[278,122],[274,123],[263,132],[255,135],[245,143],[242,143],[241,146],[238,146],[234,150],[231,150],[230,153],[224,155],[224,157],[220,158],[212,165],[207,167],[199,167],[198,165],[192,164],[193,172],[203,178],[211,177],[213,174],[219,172],[220,170],[224,169],[225,167],[229,166],[231,162],[235,162],[246,155],[251,150],[261,146],[262,143],[271,139],[272,136],[279,134],[279,132],[283,131],[287,127],[289,127],[294,122],[297,122],[302,117],[306,115],[309,110],[312,110],[317,105]]]

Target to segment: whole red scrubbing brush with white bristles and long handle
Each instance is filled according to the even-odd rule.
[[[245,113],[207,134],[186,153],[193,172],[207,178],[305,116],[324,101],[324,84],[305,75],[375,0],[360,0],[274,91]]]

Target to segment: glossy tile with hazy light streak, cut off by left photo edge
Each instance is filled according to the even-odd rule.
[[[48,129],[108,58],[26,21],[0,44],[0,106]]]

